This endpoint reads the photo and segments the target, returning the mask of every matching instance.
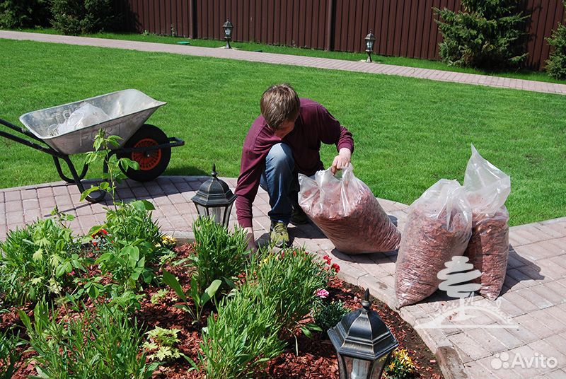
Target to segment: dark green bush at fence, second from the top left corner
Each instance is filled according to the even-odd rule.
[[[98,33],[115,25],[112,0],[52,0],[52,25],[66,35]]]

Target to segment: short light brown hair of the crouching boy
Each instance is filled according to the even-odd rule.
[[[289,84],[276,84],[267,88],[260,101],[265,122],[276,130],[285,121],[295,121],[300,107],[299,95]]]

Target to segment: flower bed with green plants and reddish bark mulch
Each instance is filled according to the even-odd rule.
[[[13,378],[337,378],[323,330],[359,308],[362,289],[338,280],[330,257],[248,256],[242,231],[202,218],[195,243],[169,250],[151,208],[115,206],[80,238],[57,212],[9,233],[0,376],[14,363]],[[403,349],[389,378],[440,378],[415,331],[373,302]]]

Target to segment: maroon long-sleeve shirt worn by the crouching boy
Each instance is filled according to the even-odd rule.
[[[337,151],[343,147],[354,151],[352,133],[316,101],[301,98],[299,118],[294,129],[283,139],[275,136],[273,129],[267,126],[260,115],[253,122],[243,143],[240,176],[236,185],[236,215],[240,226],[252,226],[252,203],[265,170],[265,157],[270,148],[279,142],[289,145],[293,151],[295,172],[309,176],[324,168],[319,153],[321,142],[335,144]]]

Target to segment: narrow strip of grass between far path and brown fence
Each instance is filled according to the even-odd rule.
[[[52,28],[45,29],[25,29],[23,31],[34,32],[34,33],[48,33],[48,34],[60,34],[57,30]],[[188,41],[192,46],[202,46],[202,47],[221,47],[226,45],[226,42],[219,40],[191,40],[189,38],[183,37],[172,37],[168,35],[154,35],[154,34],[138,34],[138,33],[96,33],[85,35],[86,37],[98,37],[98,38],[108,38],[112,40],[132,40],[141,42],[158,42],[158,43],[169,43],[176,44],[179,41]],[[354,52],[325,52],[324,50],[316,49],[305,49],[299,47],[288,47],[279,45],[265,45],[255,42],[232,42],[232,47],[236,49],[257,51],[262,52],[272,52],[277,54],[291,54],[291,55],[304,55],[308,57],[322,57],[322,58],[332,58],[332,59],[345,59],[352,61],[359,61],[366,59],[366,53],[354,53]],[[521,70],[521,71],[483,71],[478,69],[468,69],[455,66],[448,66],[443,62],[430,61],[427,59],[415,59],[415,58],[405,58],[405,57],[385,57],[382,55],[374,55],[374,62],[381,64],[395,64],[398,66],[408,66],[408,67],[418,67],[421,69],[434,69],[434,70],[444,70],[444,71],[457,71],[466,72],[468,74],[485,74],[485,75],[497,75],[504,76],[507,78],[519,78],[531,81],[547,81],[550,83],[565,83],[566,80],[558,80],[548,76],[543,71],[531,71],[531,70]]]

